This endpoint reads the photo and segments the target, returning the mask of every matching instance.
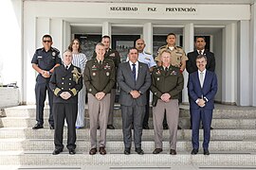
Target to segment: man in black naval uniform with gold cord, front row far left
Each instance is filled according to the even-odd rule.
[[[49,82],[53,95],[53,116],[55,121],[53,155],[63,151],[64,119],[67,122],[67,149],[69,154],[75,154],[76,120],[78,114],[78,92],[82,89],[82,73],[74,66],[72,52],[64,52],[64,65],[55,68]]]

